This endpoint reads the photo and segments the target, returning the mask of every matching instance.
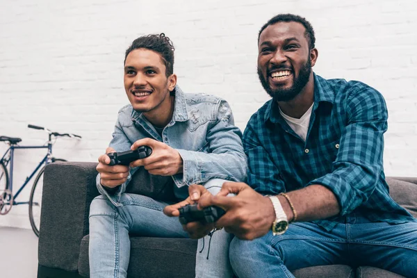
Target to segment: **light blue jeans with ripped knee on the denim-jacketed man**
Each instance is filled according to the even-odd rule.
[[[222,179],[212,179],[204,186],[212,194],[220,190]],[[114,206],[106,196],[100,195],[90,205],[90,277],[126,277],[129,266],[129,233],[139,236],[161,238],[186,238],[178,218],[163,214],[168,204],[152,198],[124,193],[122,206]],[[225,231],[215,231],[211,238],[199,240],[196,254],[196,277],[231,277],[233,272],[229,263],[229,243],[231,235]],[[199,252],[199,251],[202,252]]]

